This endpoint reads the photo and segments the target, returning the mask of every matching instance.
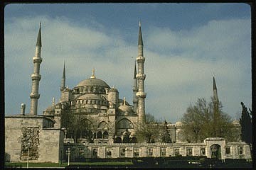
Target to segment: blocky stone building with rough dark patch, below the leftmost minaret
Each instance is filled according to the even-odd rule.
[[[42,115],[5,117],[7,162],[59,162],[64,132],[53,128],[53,121]]]

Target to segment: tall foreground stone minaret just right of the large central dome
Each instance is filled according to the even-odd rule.
[[[146,78],[146,74],[144,74],[144,62],[145,57],[143,57],[143,41],[142,41],[142,28],[141,23],[139,22],[139,42],[138,42],[138,74],[136,75],[138,80],[138,92],[136,96],[138,98],[138,116],[139,122],[145,123],[145,98],[146,93],[144,92],[144,80]]]

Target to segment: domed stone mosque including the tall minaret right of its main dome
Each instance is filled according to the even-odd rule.
[[[125,98],[119,98],[119,91],[110,86],[102,79],[97,79],[95,69],[92,69],[92,76],[82,80],[73,89],[65,86],[65,64],[63,68],[63,78],[60,85],[60,100],[58,103],[53,103],[43,112],[48,118],[55,121],[55,127],[65,127],[60,120],[61,115],[67,113],[74,116],[74,121],[79,120],[87,127],[80,132],[79,141],[89,142],[85,137],[85,131],[90,130],[93,142],[114,141],[122,142],[124,132],[128,131],[134,141],[134,126],[137,123],[145,121],[145,106],[144,98],[144,62],[143,56],[143,40],[142,29],[139,23],[139,40],[138,40],[138,57],[137,67],[134,64],[134,88],[133,91],[133,106],[130,105]],[[77,134],[76,134],[77,135]],[[69,136],[69,135],[68,135]],[[73,134],[74,136],[74,134]],[[76,139],[75,139],[76,140]]]

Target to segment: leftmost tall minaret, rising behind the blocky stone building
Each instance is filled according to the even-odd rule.
[[[33,74],[31,74],[31,79],[32,79],[32,91],[30,94],[30,98],[31,98],[30,114],[31,115],[37,115],[38,98],[40,97],[40,94],[38,94],[38,89],[39,89],[39,81],[41,80],[41,75],[39,74],[40,64],[42,62],[41,47],[42,47],[42,43],[41,43],[41,22],[40,22],[38,38],[36,41],[36,55],[35,57],[33,57],[34,71],[33,71]]]

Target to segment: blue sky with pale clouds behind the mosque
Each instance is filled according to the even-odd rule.
[[[32,57],[42,21],[38,113],[60,97],[63,62],[73,88],[95,74],[132,103],[139,21],[146,113],[175,123],[197,98],[210,101],[213,74],[223,111],[252,106],[247,4],[9,4],[4,16],[5,114],[29,113]]]

